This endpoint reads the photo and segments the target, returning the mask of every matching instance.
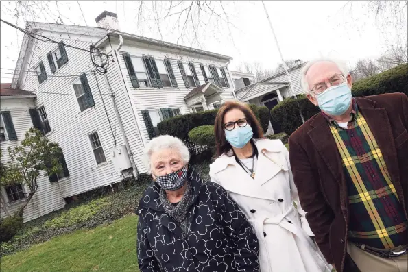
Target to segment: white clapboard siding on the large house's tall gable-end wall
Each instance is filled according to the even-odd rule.
[[[88,49],[91,42],[89,36],[83,36],[80,40],[74,41],[64,35],[62,40],[68,45],[84,49]],[[93,42],[96,40],[97,38],[93,37]],[[68,62],[58,69],[55,74],[52,74],[49,69],[47,53],[55,49],[56,46],[55,44],[37,42],[33,50],[34,60],[31,66],[34,67],[36,63],[39,62],[39,59],[43,60],[48,79],[39,85],[36,76],[30,73],[23,88],[28,91],[36,92],[36,106],[45,106],[49,124],[52,129],[52,132],[47,135],[47,138],[57,142],[62,148],[70,173],[70,177],[67,178],[67,180],[58,182],[58,184],[60,184],[62,196],[69,197],[122,180],[122,177],[119,173],[116,173],[112,165],[110,149],[115,145],[113,135],[115,135],[117,145],[123,145],[123,138],[117,124],[104,77],[96,75],[96,81],[95,76],[91,73],[93,66],[89,53],[65,47]],[[112,73],[110,73],[110,71],[112,71]],[[70,72],[78,73],[67,74]],[[79,78],[82,72],[86,72],[86,77],[95,101],[95,107],[84,110],[84,112],[80,112],[72,87],[72,83]],[[117,92],[115,99],[118,103],[118,108],[126,112],[129,110],[129,108],[123,106],[123,104],[126,103],[126,94],[121,90],[119,84],[121,77],[119,73],[117,73],[113,62],[110,63],[108,75],[112,90]],[[97,82],[99,83],[102,95],[99,93]],[[52,94],[50,94],[50,92],[52,92]],[[112,124],[113,135],[102,103],[102,97],[105,102],[110,123]],[[126,116],[130,116],[130,114]],[[122,116],[122,119],[124,123],[127,121],[125,116]],[[91,143],[88,138],[88,134],[93,132],[98,132],[107,160],[107,162],[99,165],[95,162]],[[136,133],[133,135],[137,137]],[[136,140],[133,140],[133,143],[135,142]]]

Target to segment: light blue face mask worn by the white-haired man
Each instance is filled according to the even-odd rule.
[[[350,108],[352,101],[351,90],[347,82],[327,88],[320,95],[316,95],[316,98],[319,108],[333,116],[344,114]]]

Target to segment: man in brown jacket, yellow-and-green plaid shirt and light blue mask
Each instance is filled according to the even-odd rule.
[[[353,98],[347,66],[315,60],[302,88],[316,114],[289,138],[300,203],[337,271],[408,271],[408,98]]]

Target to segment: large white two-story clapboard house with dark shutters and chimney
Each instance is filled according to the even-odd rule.
[[[230,57],[121,32],[110,12],[96,21],[100,27],[27,24],[32,34],[23,38],[11,88],[36,97],[25,110],[10,110],[18,140],[5,143],[18,144],[33,126],[27,110],[35,108],[41,121],[47,118],[45,137],[62,148],[69,176],[42,177],[25,221],[62,208],[64,199],[145,173],[141,154],[157,123],[235,98]],[[95,73],[90,45],[108,55],[106,77]]]

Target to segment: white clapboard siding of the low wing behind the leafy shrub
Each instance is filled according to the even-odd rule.
[[[0,107],[1,111],[10,111],[14,129],[16,130],[17,134],[16,141],[6,141],[1,143],[1,161],[5,163],[10,160],[10,156],[8,155],[8,147],[13,148],[16,145],[19,145],[21,140],[25,138],[25,133],[28,132],[30,127],[32,127],[29,108],[34,108],[34,98],[1,99]],[[53,210],[63,208],[65,205],[58,182],[49,182],[49,178],[47,175],[45,175],[45,173],[40,173],[37,182],[38,190],[24,209],[24,221],[35,219],[52,212]],[[29,191],[28,188],[24,188],[23,190],[25,190],[25,193]],[[8,201],[5,190],[2,190],[1,193],[3,194],[3,199]],[[7,203],[6,208],[9,214],[14,214],[22,205],[23,201],[16,201]],[[0,214],[2,218],[7,216],[4,210],[1,210]]]

